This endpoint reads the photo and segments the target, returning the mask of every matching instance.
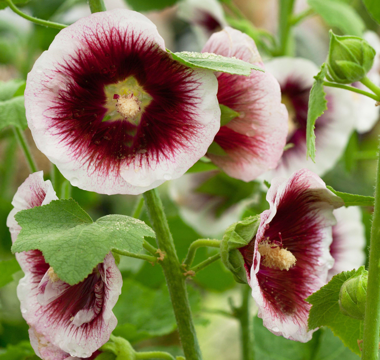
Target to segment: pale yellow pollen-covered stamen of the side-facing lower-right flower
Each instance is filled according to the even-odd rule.
[[[258,250],[266,267],[288,271],[297,261],[291,251],[269,243],[267,239],[259,244]]]

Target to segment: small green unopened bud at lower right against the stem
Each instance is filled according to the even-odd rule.
[[[339,294],[339,307],[344,315],[364,320],[367,281],[368,272],[361,266],[352,278],[343,283]]]

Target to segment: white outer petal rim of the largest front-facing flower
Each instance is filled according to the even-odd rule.
[[[57,63],[72,61],[71,57],[79,50],[88,51],[83,39],[96,28],[101,29],[103,34],[107,34],[111,28],[117,28],[119,32],[133,31],[134,34],[142,34],[166,51],[164,40],[158,34],[156,26],[137,12],[117,9],[95,13],[78,20],[56,36],[49,50],[37,59],[28,74],[25,89],[28,125],[38,149],[57,165],[73,186],[108,195],[141,194],[168,179],[178,178],[205,155],[220,126],[220,109],[216,98],[217,80],[211,71],[194,70],[193,80],[199,82],[194,91],[194,97],[199,99],[197,116],[194,118],[199,123],[198,136],[195,139],[178,149],[174,156],[166,158],[161,155],[156,164],[152,164],[151,161],[150,167],[146,157],[141,156],[141,168],[135,168],[133,165],[129,168],[124,166],[120,172],[102,176],[87,164],[72,158],[70,146],[60,143],[54,129],[49,128],[47,113],[44,110],[49,109],[51,101],[56,97],[57,86],[60,88],[65,86],[67,81],[71,81],[65,75],[57,74]],[[136,159],[136,163],[138,160]]]

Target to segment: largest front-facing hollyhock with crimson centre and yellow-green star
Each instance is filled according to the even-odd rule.
[[[144,15],[117,9],[63,29],[25,90],[34,141],[72,185],[139,194],[181,176],[219,129],[217,81],[174,61]]]

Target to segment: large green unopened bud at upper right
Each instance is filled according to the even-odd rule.
[[[326,78],[342,84],[359,81],[371,69],[375,55],[366,40],[357,36],[338,36],[330,30]]]

